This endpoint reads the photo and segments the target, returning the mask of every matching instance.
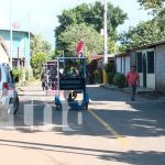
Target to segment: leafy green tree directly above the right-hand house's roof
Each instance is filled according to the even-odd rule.
[[[138,26],[130,28],[128,32],[120,35],[122,44],[120,48],[125,51],[130,47],[139,47],[162,40],[165,40],[165,31],[162,30],[156,20],[141,22]]]

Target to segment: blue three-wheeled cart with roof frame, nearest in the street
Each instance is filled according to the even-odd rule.
[[[62,109],[61,91],[69,91],[66,101],[70,109],[87,110],[89,96],[86,89],[86,57],[57,58],[56,109]],[[78,98],[81,96],[80,98]]]

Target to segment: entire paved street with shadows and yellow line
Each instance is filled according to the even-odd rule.
[[[138,97],[131,102],[129,94],[90,86],[89,111],[72,110],[66,116],[65,110],[55,110],[54,96],[46,96],[40,84],[23,89],[14,117],[15,127],[1,127],[0,130],[0,164],[164,164],[164,101]],[[25,123],[31,120],[25,121],[24,114],[31,111],[24,107],[31,103],[34,123],[28,125]],[[67,108],[65,102],[64,107]],[[52,123],[43,119],[44,108],[48,112],[53,110],[46,113],[47,118],[53,116]]]

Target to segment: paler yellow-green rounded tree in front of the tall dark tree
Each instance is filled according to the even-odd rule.
[[[85,23],[70,25],[59,35],[59,40],[67,45],[67,54],[76,55],[76,45],[79,40],[84,40],[85,54],[101,54],[103,50],[102,36],[92,28]]]

